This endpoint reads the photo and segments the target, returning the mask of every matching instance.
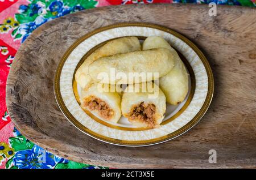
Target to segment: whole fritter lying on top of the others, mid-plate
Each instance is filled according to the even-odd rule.
[[[134,84],[158,79],[170,72],[173,66],[172,52],[156,48],[98,58],[89,65],[89,75],[96,82]],[[147,78],[141,78],[145,74]]]

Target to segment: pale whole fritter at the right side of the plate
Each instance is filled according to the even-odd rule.
[[[164,38],[147,37],[143,42],[143,50],[153,48],[167,48],[174,54],[174,67],[167,75],[159,79],[159,87],[166,95],[166,101],[172,105],[177,105],[185,99],[188,93],[187,70],[176,50]]]

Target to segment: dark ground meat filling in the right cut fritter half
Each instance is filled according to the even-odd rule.
[[[155,105],[145,104],[144,102],[142,102],[141,104],[133,108],[129,119],[131,120],[138,119],[140,121],[146,122],[148,126],[154,126],[155,125],[154,115],[155,115]]]

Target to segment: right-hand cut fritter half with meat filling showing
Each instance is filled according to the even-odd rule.
[[[127,88],[135,89],[136,85],[139,85],[139,91],[126,91]],[[166,96],[161,89],[152,82],[130,84],[127,88],[121,102],[123,116],[136,127],[159,127],[166,112]]]

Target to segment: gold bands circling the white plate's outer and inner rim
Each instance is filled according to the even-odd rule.
[[[86,38],[89,38],[93,35],[95,35],[96,33],[108,30],[108,29],[112,29],[112,28],[118,28],[118,27],[148,27],[148,28],[155,28],[155,29],[159,29],[160,31],[164,31],[167,33],[170,33],[171,35],[176,36],[177,38],[180,38],[180,40],[184,41],[188,46],[190,46],[190,48],[192,48],[196,54],[199,56],[199,58],[201,59],[201,61],[203,62],[203,65],[205,67],[205,70],[207,71],[207,76],[208,76],[208,92],[207,92],[207,97],[205,98],[204,104],[201,107],[201,109],[199,110],[199,112],[195,115],[195,117],[189,121],[186,125],[184,125],[183,127],[179,128],[179,130],[176,130],[168,135],[164,135],[160,138],[155,138],[155,139],[150,139],[150,140],[137,140],[137,141],[131,141],[131,140],[120,140],[120,139],[114,139],[114,138],[109,138],[100,134],[97,134],[96,132],[89,130],[89,128],[86,128],[85,126],[83,126],[79,121],[77,121],[77,119],[75,117],[73,117],[73,115],[69,112],[69,110],[67,109],[67,107],[64,104],[63,98],[61,97],[61,93],[60,93],[60,74],[61,74],[61,70],[63,68],[63,65],[66,61],[66,59],[68,58],[69,54],[71,54],[71,52],[73,51],[73,49],[76,48],[76,46],[78,46],[82,41],[86,40]],[[141,37],[144,38],[144,37]],[[102,42],[101,44],[98,44],[97,46],[95,46],[94,48],[90,49],[86,54],[90,54],[92,53],[95,49],[97,49],[98,47],[102,46],[105,42]],[[86,56],[86,54],[84,56]],[[86,56],[87,57],[87,56]],[[84,57],[80,60],[79,64],[76,67],[77,68],[81,65],[81,63],[84,61]],[[187,61],[187,60],[186,60]],[[189,95],[189,98],[186,102],[186,104],[188,105],[190,103],[190,101],[192,100],[193,97],[193,93],[195,92],[195,87],[193,87],[193,78],[195,78],[195,75],[193,74],[193,70],[191,73],[191,66],[188,65],[189,63],[184,61],[183,58],[183,62],[185,63],[186,67],[188,68],[189,74],[191,75],[191,93]],[[191,68],[191,69],[190,69]],[[75,70],[75,71],[76,71]],[[74,78],[73,78],[73,88],[75,87],[75,82],[74,82]],[[212,97],[213,97],[213,90],[214,90],[214,80],[213,80],[213,74],[212,74],[212,70],[210,68],[209,62],[207,61],[207,59],[205,58],[204,54],[199,50],[199,48],[197,48],[197,46],[195,44],[193,44],[193,42],[191,42],[190,40],[188,40],[188,38],[180,35],[179,33],[166,28],[166,27],[162,27],[160,25],[156,25],[156,24],[150,24],[150,23],[119,23],[119,24],[113,24],[113,25],[108,25],[106,27],[102,27],[102,28],[98,28],[95,29],[94,31],[86,34],[85,36],[82,36],[81,38],[79,38],[74,44],[72,44],[67,52],[64,53],[63,57],[60,59],[59,64],[57,65],[56,68],[56,72],[55,72],[55,77],[54,77],[54,92],[55,92],[55,97],[56,97],[56,101],[57,104],[59,105],[61,112],[63,112],[63,114],[65,115],[65,117],[77,128],[79,128],[79,130],[81,130],[82,132],[84,132],[85,134],[92,136],[93,138],[96,138],[98,140],[101,140],[103,142],[107,142],[107,143],[111,143],[111,144],[117,144],[117,145],[125,145],[125,146],[145,146],[145,145],[153,145],[153,144],[158,144],[158,143],[162,143],[162,142],[166,142],[167,140],[171,140],[176,138],[177,136],[183,134],[184,132],[187,132],[190,128],[192,128],[193,126],[195,126],[200,119],[203,117],[203,115],[207,112],[207,109],[209,108],[210,102],[212,101]],[[76,97],[76,93],[75,93],[75,97]],[[76,97],[77,100],[77,97]],[[184,107],[185,105],[183,105]],[[181,108],[179,110],[179,112],[177,112],[174,116],[172,116],[170,119],[167,119],[166,121],[164,121],[163,123],[166,124],[170,121],[172,121],[172,119],[175,119],[178,115],[180,115],[185,108]],[[181,112],[181,113],[180,113]],[[89,112],[86,112],[90,117],[92,117]],[[92,117],[93,118],[93,117]],[[94,119],[94,118],[93,118]],[[94,119],[96,121],[98,121],[98,119]],[[101,119],[99,119],[101,121]],[[104,121],[102,121],[104,122]],[[100,123],[102,123],[100,122]],[[165,123],[166,122],[166,123]],[[114,125],[110,125],[108,124],[109,127],[112,127]],[[104,123],[105,125],[105,123]],[[117,126],[120,128],[120,126]],[[127,127],[121,127],[122,128],[127,128]],[[126,129],[125,129],[126,130]],[[132,128],[130,128],[130,130],[133,130]],[[139,129],[137,129],[139,130]],[[145,130],[145,129],[142,129]]]

